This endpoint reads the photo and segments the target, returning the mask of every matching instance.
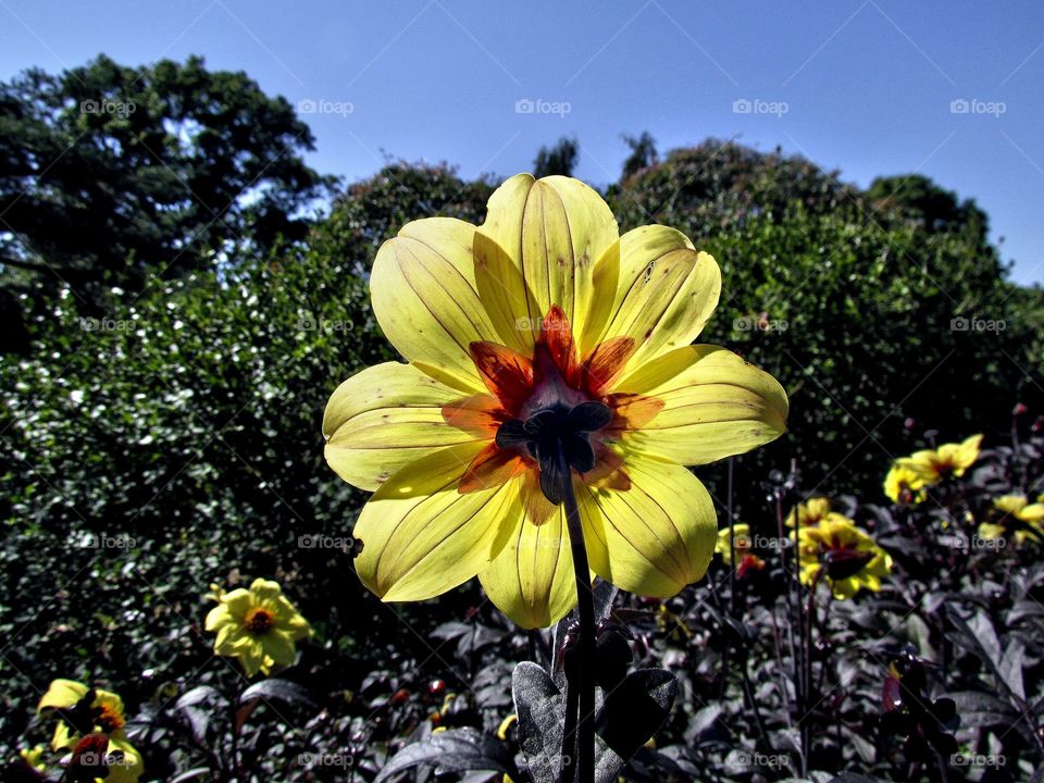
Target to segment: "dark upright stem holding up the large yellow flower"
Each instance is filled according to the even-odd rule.
[[[567,703],[577,704],[580,720],[576,725],[579,742],[574,742],[572,732],[562,737],[562,783],[571,783],[576,774],[579,783],[594,783],[595,780],[595,597],[591,587],[591,569],[587,566],[587,547],[584,545],[584,526],[580,520],[580,507],[573,492],[572,471],[566,462],[563,449],[559,447],[559,464],[567,480],[562,505],[566,508],[566,525],[569,531],[569,546],[573,554],[573,573],[576,576],[576,613],[580,616],[580,656],[573,667],[574,678],[569,679],[569,689],[580,691],[579,698],[568,698]],[[570,696],[572,694],[570,693]],[[570,718],[567,716],[567,724]],[[575,747],[575,753],[574,753]],[[574,758],[575,756],[575,758]]]

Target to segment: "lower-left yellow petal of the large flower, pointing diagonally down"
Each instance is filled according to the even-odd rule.
[[[423,600],[485,568],[522,514],[518,482],[461,495],[457,485],[482,445],[451,446],[399,471],[363,507],[356,570],[384,600]]]

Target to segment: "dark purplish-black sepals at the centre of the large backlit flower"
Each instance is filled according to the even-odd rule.
[[[591,433],[606,426],[612,411],[602,402],[588,400],[569,407],[557,402],[524,421],[509,419],[497,430],[497,446],[520,448],[540,469],[540,490],[558,506],[566,498],[572,471],[587,473],[595,467]]]

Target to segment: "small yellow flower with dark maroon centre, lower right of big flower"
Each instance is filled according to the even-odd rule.
[[[825,577],[834,598],[852,598],[860,588],[877,593],[892,571],[892,557],[850,520],[825,520],[798,530],[801,584]]]

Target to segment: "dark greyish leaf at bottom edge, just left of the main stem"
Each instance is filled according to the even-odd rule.
[[[391,757],[374,783],[419,765],[434,767],[436,775],[489,770],[519,776],[507,747],[496,737],[469,726],[438,732],[407,745]]]

